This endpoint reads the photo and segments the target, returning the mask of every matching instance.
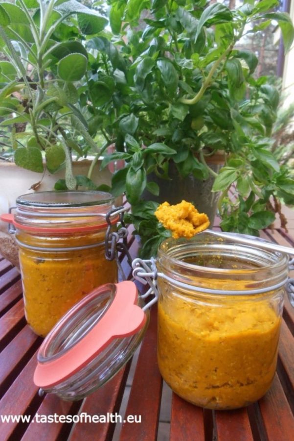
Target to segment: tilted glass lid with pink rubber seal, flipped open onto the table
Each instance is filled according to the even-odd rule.
[[[147,328],[136,285],[107,284],[76,303],[38,352],[34,383],[80,399],[108,381],[133,355]]]

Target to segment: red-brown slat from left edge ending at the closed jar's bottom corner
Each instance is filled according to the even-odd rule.
[[[22,331],[9,343],[0,353],[0,394],[7,390],[15,377],[23,368],[32,353],[40,344],[41,339],[28,327]]]

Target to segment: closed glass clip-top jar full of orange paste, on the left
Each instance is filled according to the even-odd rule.
[[[105,258],[105,216],[113,197],[103,192],[39,192],[16,202],[25,317],[45,337],[84,295],[117,282],[116,262]]]

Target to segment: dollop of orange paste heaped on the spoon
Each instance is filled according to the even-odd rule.
[[[175,239],[179,237],[190,239],[209,227],[207,215],[199,213],[193,204],[185,200],[176,205],[163,202],[158,206],[155,216],[165,228],[172,231]]]

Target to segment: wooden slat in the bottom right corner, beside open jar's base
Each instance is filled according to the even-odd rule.
[[[269,441],[290,441],[294,435],[294,416],[275,374],[271,389],[259,401]]]

